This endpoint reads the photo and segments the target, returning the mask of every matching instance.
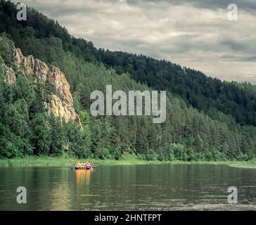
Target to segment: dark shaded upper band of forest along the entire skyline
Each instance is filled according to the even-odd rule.
[[[120,75],[129,72],[137,82],[157,90],[168,90],[213,118],[215,112],[220,111],[231,115],[241,125],[256,126],[256,101],[250,89],[241,89],[234,82],[221,82],[205,76],[202,72],[182,68],[165,60],[96,49],[91,41],[72,37],[58,22],[46,18],[33,8],[27,13],[27,21],[16,20],[16,12],[14,4],[0,1],[0,20],[4,22],[0,25],[0,33],[7,32],[11,35],[15,46],[22,49],[25,56],[31,54],[53,64],[54,58],[58,56],[53,57],[49,53],[49,43],[46,41],[42,44],[41,39],[58,37],[64,51],[71,51],[78,58],[94,63],[102,62],[115,68]],[[58,41],[52,44],[54,49],[58,48],[58,44]]]

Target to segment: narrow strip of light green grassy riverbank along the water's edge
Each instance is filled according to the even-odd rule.
[[[51,157],[27,157],[27,158],[15,158],[0,160],[0,167],[73,167],[76,162],[85,162],[89,160],[92,165],[147,165],[147,164],[208,164],[208,165],[229,165],[231,167],[240,168],[252,168],[256,169],[256,160],[248,162],[240,161],[220,161],[220,162],[208,162],[208,161],[146,161],[139,160],[134,155],[128,155],[123,160],[97,160],[97,159],[84,159],[78,160],[75,158],[51,158]]]

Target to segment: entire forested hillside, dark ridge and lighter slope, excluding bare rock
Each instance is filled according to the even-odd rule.
[[[117,160],[125,153],[146,160],[255,157],[256,98],[248,84],[221,82],[164,60],[97,50],[32,8],[27,21],[18,22],[15,5],[0,2],[0,32],[8,46],[0,46],[1,60],[15,70],[6,51],[15,45],[24,55],[60,68],[84,128],[80,130],[74,122],[61,124],[47,115],[42,104],[46,96],[27,77],[18,75],[13,85],[1,79],[0,157],[65,152],[79,158]],[[104,91],[107,84],[123,91],[167,90],[166,122],[153,124],[151,117],[92,117],[91,91]]]

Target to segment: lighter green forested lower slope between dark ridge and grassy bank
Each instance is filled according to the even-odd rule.
[[[4,45],[8,46],[4,49],[13,48],[13,44],[10,45],[6,37],[2,39],[5,40]],[[0,53],[5,58],[10,56],[3,49]],[[117,75],[115,70],[108,70],[104,65],[87,63],[69,51],[64,51],[61,47],[57,53],[61,57],[56,58],[55,63],[61,64],[68,81],[74,86],[75,109],[81,117],[84,129],[79,130],[72,122],[61,124],[61,120],[54,119],[53,115],[49,116],[47,114],[49,110],[44,107],[44,102],[48,101],[50,104],[53,100],[52,89],[42,87],[41,82],[37,85],[30,83],[29,77],[25,77],[26,73],[18,72],[17,61],[8,58],[7,61],[10,62],[10,67],[14,68],[17,80],[11,85],[1,83],[1,104],[6,105],[6,108],[1,110],[0,122],[3,129],[8,130],[6,134],[11,133],[13,139],[9,139],[2,131],[2,138],[4,138],[2,143],[15,146],[20,143],[17,139],[24,138],[30,146],[30,151],[21,151],[17,146],[14,154],[2,153],[1,156],[55,155],[56,153],[61,155],[64,153],[65,146],[69,146],[66,150],[70,154],[103,159],[119,159],[124,153],[136,153],[148,160],[226,160],[234,158],[246,160],[254,157],[255,142],[253,140],[256,135],[254,127],[241,127],[231,117],[222,113],[217,113],[218,120],[212,120],[204,113],[187,107],[184,101],[171,94],[167,99],[167,120],[164,124],[153,124],[152,118],[146,116],[92,117],[89,113],[91,91],[105,92],[107,84],[113,85],[113,91],[143,91],[150,88],[135,82],[130,75]],[[4,79],[8,80],[6,77]],[[24,86],[24,83],[27,86]],[[42,89],[46,91],[41,91]],[[6,96],[6,90],[11,96]],[[27,94],[27,90],[31,90],[31,93]],[[20,91],[20,94],[17,91]],[[48,95],[45,96],[45,93]],[[37,98],[32,97],[34,95],[37,95]],[[25,115],[23,113],[20,115],[16,108],[20,101],[23,105],[27,105],[22,111],[27,112]],[[18,110],[18,114],[8,113],[11,108]],[[27,119],[23,120],[23,117]],[[14,118],[19,119],[18,124],[27,124],[27,128],[20,127],[21,125],[18,124],[14,126]],[[6,123],[8,121],[11,123]],[[46,127],[46,124],[53,121],[55,123]],[[27,130],[32,135],[20,136],[16,126]],[[41,131],[47,132],[41,134]],[[37,136],[36,140],[34,140],[35,136]],[[58,143],[58,139],[61,140],[59,146],[53,148]],[[6,147],[3,149],[9,151]]]

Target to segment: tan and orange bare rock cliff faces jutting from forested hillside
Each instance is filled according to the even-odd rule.
[[[23,75],[39,79],[40,82],[49,82],[53,87],[51,93],[51,105],[46,105],[49,113],[53,112],[60,121],[74,120],[81,124],[78,115],[75,113],[72,94],[70,93],[70,85],[65,75],[58,68],[49,67],[46,63],[41,62],[33,56],[23,56],[20,49],[13,52],[15,65],[19,72]],[[4,69],[4,80],[8,84],[15,83],[15,72],[12,68],[8,68],[2,63]]]

